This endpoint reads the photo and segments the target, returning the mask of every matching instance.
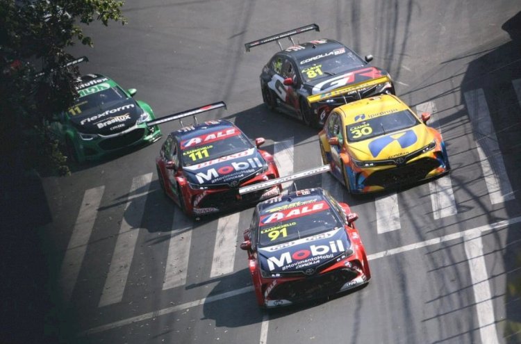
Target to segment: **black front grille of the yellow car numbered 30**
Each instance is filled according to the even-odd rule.
[[[412,183],[425,178],[425,176],[439,167],[436,159],[422,158],[413,163],[408,163],[396,168],[377,171],[365,179],[365,186],[395,186],[402,183]]]

